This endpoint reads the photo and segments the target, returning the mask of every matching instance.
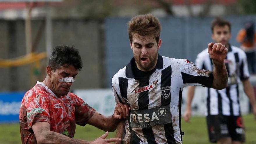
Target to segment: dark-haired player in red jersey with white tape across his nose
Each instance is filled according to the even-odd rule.
[[[129,113],[127,105],[119,104],[112,116],[105,117],[83,99],[69,93],[81,69],[82,61],[77,49],[69,46],[53,49],[45,80],[38,81],[22,99],[19,111],[22,144],[106,144],[121,141],[120,138],[105,139],[108,132],[94,141],[73,139],[76,124],[114,131],[120,119]]]

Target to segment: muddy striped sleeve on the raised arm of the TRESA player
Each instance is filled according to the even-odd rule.
[[[209,88],[212,86],[212,72],[209,70],[199,69],[187,59],[181,59],[180,72],[180,83],[182,89],[186,86],[201,85]]]

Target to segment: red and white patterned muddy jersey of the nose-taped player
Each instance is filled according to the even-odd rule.
[[[85,126],[95,109],[73,93],[57,97],[45,84],[37,84],[25,93],[19,111],[22,144],[36,144],[34,122],[48,122],[51,131],[74,137],[76,124]]]

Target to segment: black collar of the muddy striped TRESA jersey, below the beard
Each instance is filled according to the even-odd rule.
[[[131,63],[133,63],[134,61],[135,61],[135,58],[133,57],[133,58],[131,58],[131,61],[128,63],[128,65],[126,65],[125,76],[128,78],[134,78],[134,74],[131,69]],[[157,56],[157,65],[155,68],[156,69],[163,68],[163,57],[160,54],[158,54],[158,56]]]

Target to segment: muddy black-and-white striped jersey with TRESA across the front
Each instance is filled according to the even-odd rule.
[[[211,87],[213,75],[186,59],[158,55],[153,72],[135,77],[135,59],[112,78],[117,103],[128,104],[124,144],[181,144],[182,89],[189,85]]]

